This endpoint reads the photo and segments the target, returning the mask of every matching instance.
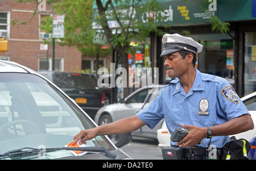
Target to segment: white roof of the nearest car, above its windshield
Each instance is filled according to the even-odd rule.
[[[33,73],[36,72],[26,66],[20,65],[16,62],[0,60],[0,73],[14,72],[14,73]]]

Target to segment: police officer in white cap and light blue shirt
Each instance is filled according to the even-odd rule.
[[[179,34],[165,34],[162,41],[161,56],[168,76],[174,80],[137,115],[82,130],[74,137],[74,144],[80,139],[80,143],[85,143],[98,135],[132,132],[146,124],[154,128],[163,118],[170,134],[176,127],[189,130],[183,140],[171,142],[181,147],[207,148],[211,140],[210,144],[222,148],[230,141],[228,135],[254,128],[249,112],[229,82],[195,69],[196,55],[203,48],[201,44]]]

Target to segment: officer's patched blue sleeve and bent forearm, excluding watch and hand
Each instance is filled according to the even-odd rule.
[[[217,100],[217,113],[228,121],[210,127],[214,136],[234,135],[254,128],[249,111],[227,81],[220,81]]]

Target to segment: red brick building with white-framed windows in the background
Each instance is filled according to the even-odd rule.
[[[46,6],[46,10],[33,17],[35,9],[38,6],[34,3],[0,1],[0,37],[9,41],[9,51],[0,53],[0,59],[15,61],[34,70],[45,70],[48,59],[51,70],[52,45],[48,45],[48,51],[40,49],[45,33],[39,26],[43,18],[56,12]],[[26,24],[14,24],[19,22]],[[55,70],[73,72],[81,66],[82,54],[76,47],[62,47],[55,43]]]

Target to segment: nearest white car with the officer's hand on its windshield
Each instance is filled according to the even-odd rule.
[[[130,159],[118,147],[131,141],[131,133],[113,137],[118,147],[108,136],[86,141],[85,147],[65,147],[81,130],[94,127],[93,119],[48,79],[0,60],[0,159]]]

